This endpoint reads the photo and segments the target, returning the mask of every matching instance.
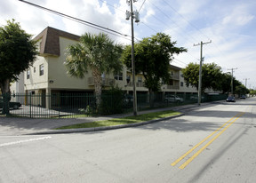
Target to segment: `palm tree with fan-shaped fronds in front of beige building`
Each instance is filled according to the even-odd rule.
[[[85,33],[79,43],[69,45],[67,59],[68,75],[84,78],[88,70],[92,70],[95,84],[97,107],[100,107],[102,90],[102,74],[118,73],[123,68],[120,60],[123,48],[115,44],[106,34],[92,35]]]

